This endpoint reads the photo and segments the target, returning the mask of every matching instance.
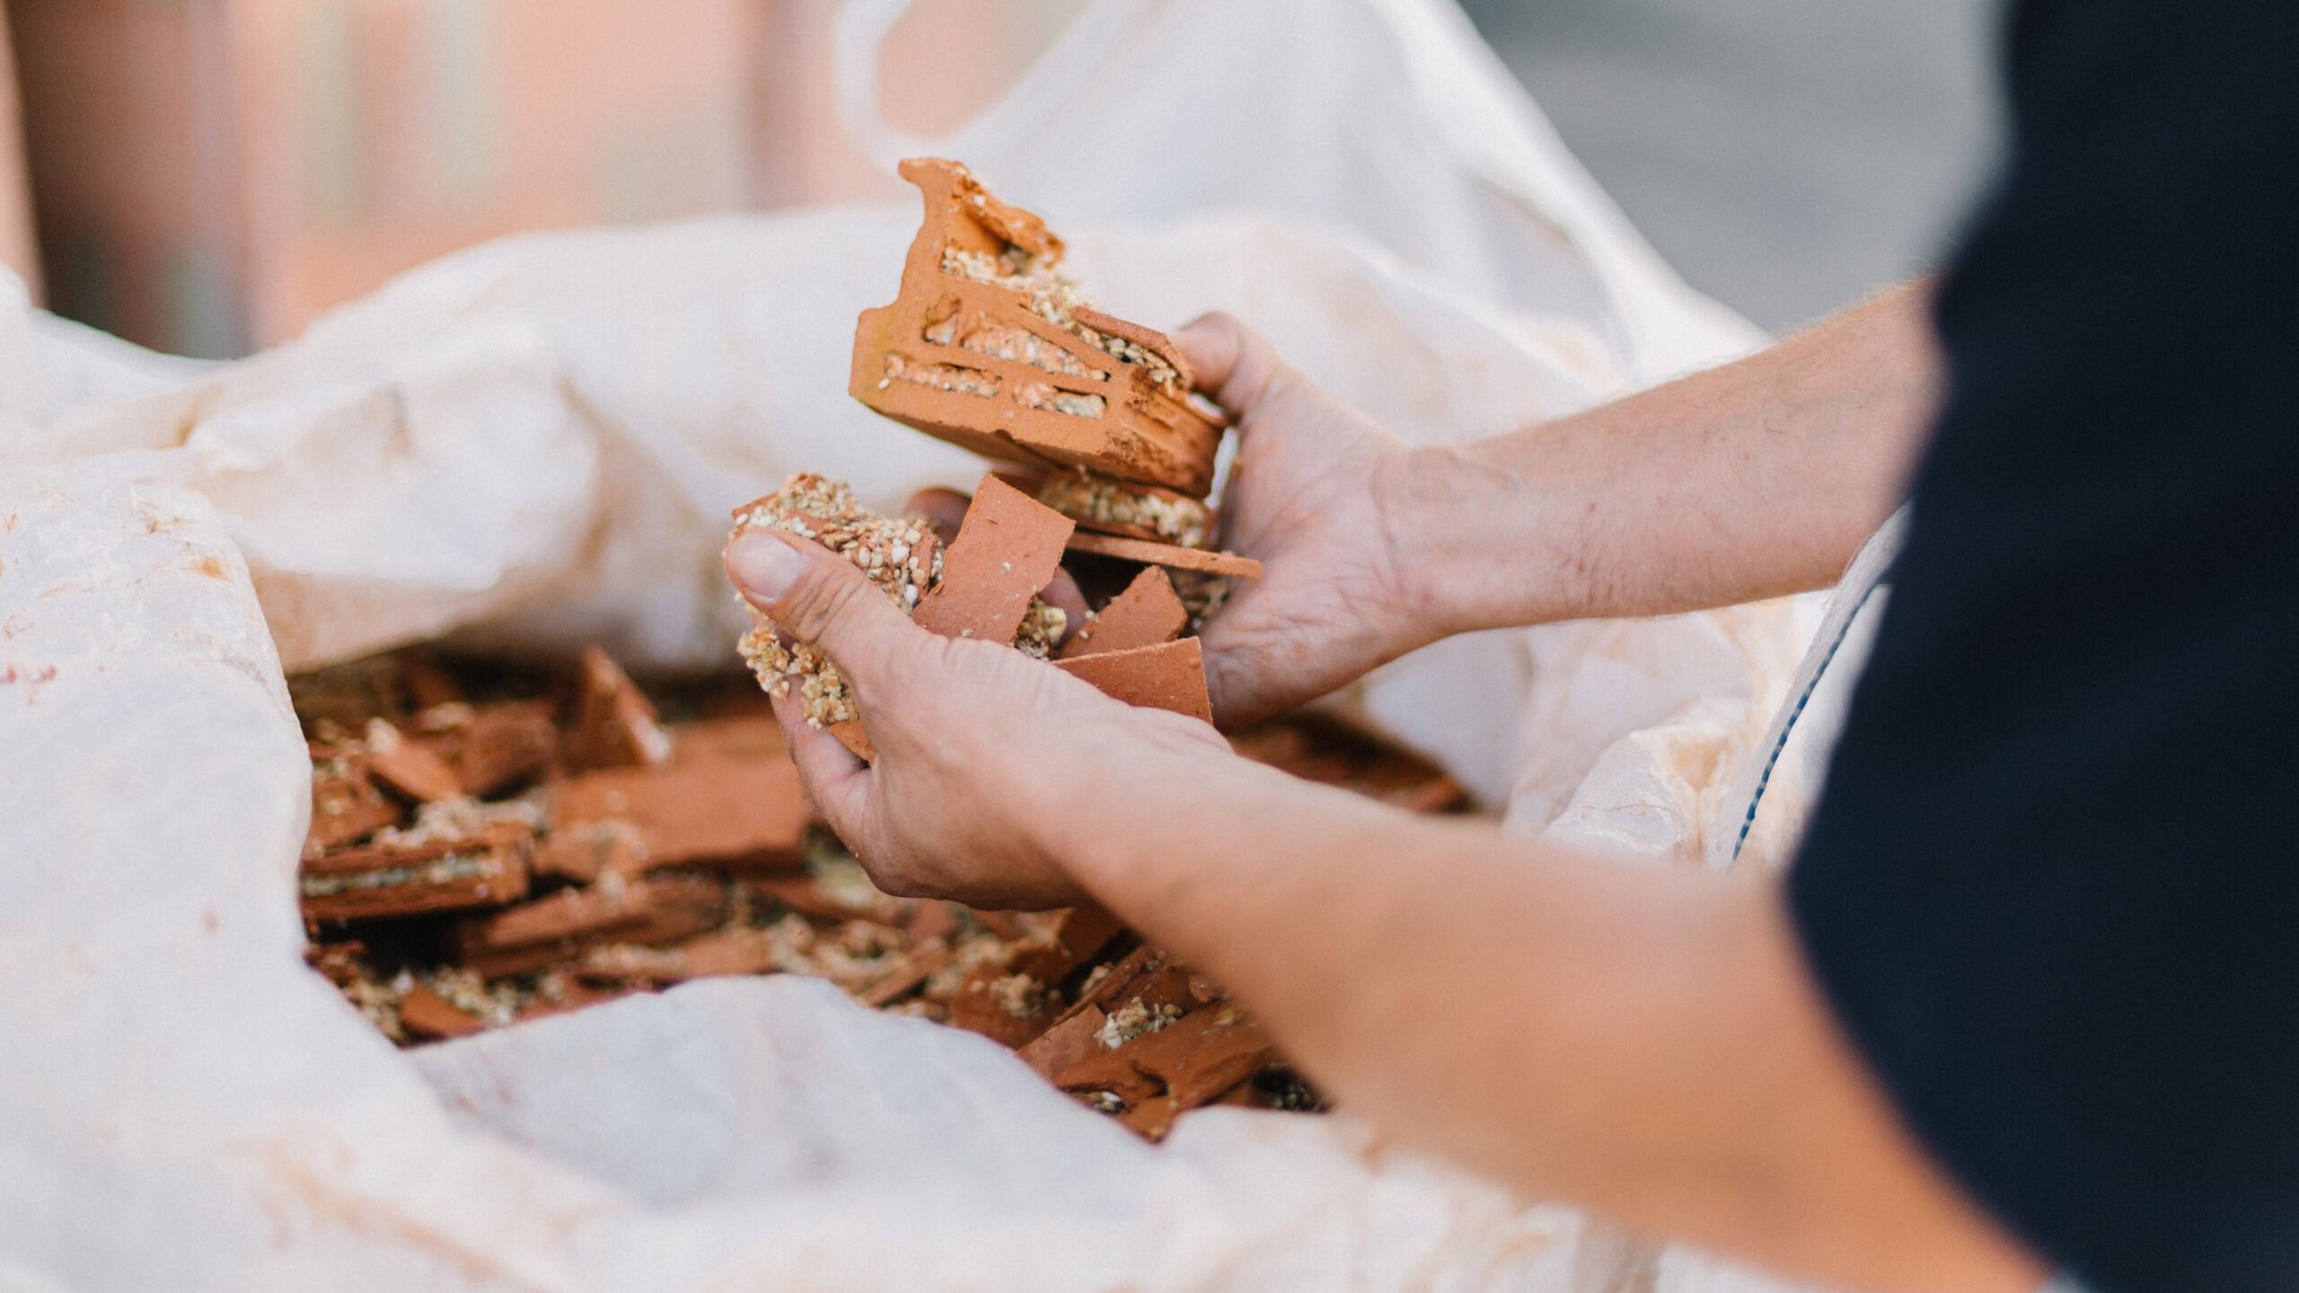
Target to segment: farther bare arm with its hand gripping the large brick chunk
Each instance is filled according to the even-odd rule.
[[[1274,713],[1451,633],[1835,582],[1940,398],[1929,294],[1448,449],[1407,449],[1235,320],[1193,324],[1177,341],[1244,433],[1225,538],[1269,568],[1207,628],[1216,713]]]

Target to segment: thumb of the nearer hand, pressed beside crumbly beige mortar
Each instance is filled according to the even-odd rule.
[[[775,628],[830,656],[858,693],[924,633],[853,561],[772,529],[747,529],[726,545],[726,577]]]

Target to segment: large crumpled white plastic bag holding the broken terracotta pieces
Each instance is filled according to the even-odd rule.
[[[1428,113],[1393,46],[1347,25],[1412,7],[1331,12],[1359,14],[1336,39],[1361,41],[1366,92]],[[1113,311],[1232,308],[1414,439],[1612,396],[1632,370],[1607,338],[1653,322],[1625,297],[1478,299],[1333,228],[1097,228],[986,177],[1074,235]],[[1561,1293],[1653,1270],[1347,1116],[1216,1109],[1152,1150],[991,1042],[814,982],[692,985],[402,1056],[301,966],[308,764],[283,667],[439,633],[729,663],[733,502],[800,467],[881,506],[979,474],[844,396],[853,315],[892,294],[915,219],[515,239],[218,368],[0,301],[0,1288]],[[1520,828],[1687,860],[1796,646],[1789,607],[1492,633],[1350,699]]]

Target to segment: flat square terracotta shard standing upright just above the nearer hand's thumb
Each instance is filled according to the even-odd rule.
[[[943,637],[1014,642],[1030,598],[1062,568],[1062,545],[1074,529],[1067,515],[982,476],[956,543],[943,552],[943,582],[917,603],[913,619]]]

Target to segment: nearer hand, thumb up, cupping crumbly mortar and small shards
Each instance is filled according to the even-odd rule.
[[[830,550],[754,529],[726,575],[779,630],[839,667],[878,762],[772,695],[800,778],[885,893],[1012,911],[1083,897],[1062,858],[1115,796],[1177,794],[1235,759],[1205,722],[1115,702],[993,642],[936,637]]]

